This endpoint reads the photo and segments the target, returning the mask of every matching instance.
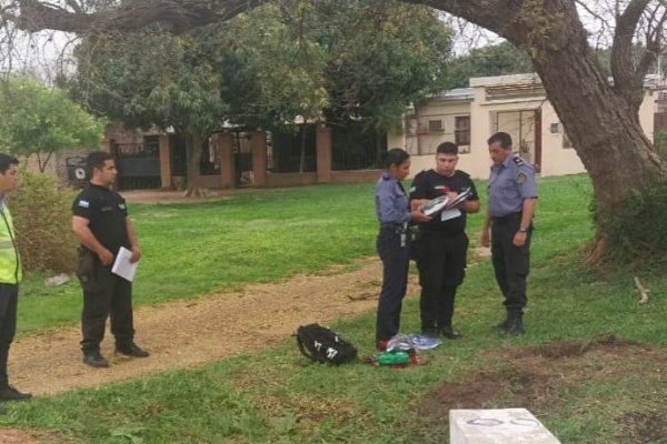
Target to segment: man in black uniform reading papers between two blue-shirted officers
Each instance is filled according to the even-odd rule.
[[[462,191],[470,190],[470,196],[457,208],[419,224],[418,241],[414,245],[421,285],[421,333],[450,340],[461,337],[451,325],[451,317],[456,290],[466,273],[466,214],[479,211],[475,183],[469,174],[456,169],[457,163],[458,147],[451,142],[441,143],[436,150],[436,168],[417,174],[410,188],[410,208],[414,210],[428,200],[447,195],[451,201]]]

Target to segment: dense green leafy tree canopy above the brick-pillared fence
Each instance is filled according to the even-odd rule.
[[[389,128],[444,85],[451,30],[392,1],[269,3],[172,36],[88,38],[72,91],[131,127],[206,137],[223,121],[271,129],[298,117]]]

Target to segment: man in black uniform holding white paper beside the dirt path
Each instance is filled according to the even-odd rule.
[[[81,242],[80,261],[86,263],[88,259],[92,265],[86,275],[80,275],[83,287],[81,351],[83,363],[108,367],[109,362],[100,354],[100,343],[109,315],[116,352],[132,357],[149,355],[135,344],[132,283],[111,272],[121,246],[132,252],[131,262],[139,261],[141,250],[125,199],[110,189],[117,175],[113,157],[102,151],[91,152],[87,167],[90,183],[72,203],[72,230]]]

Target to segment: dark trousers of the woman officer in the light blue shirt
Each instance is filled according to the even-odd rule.
[[[400,329],[400,310],[408,289],[410,265],[409,240],[395,226],[381,226],[377,239],[377,251],[382,260],[382,290],[378,302],[376,343],[389,340]]]

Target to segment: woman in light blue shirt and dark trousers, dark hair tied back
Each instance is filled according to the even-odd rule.
[[[408,222],[428,222],[420,209],[410,211],[400,181],[410,172],[410,155],[400,148],[385,157],[385,172],[376,184],[376,215],[380,224],[377,251],[382,261],[382,290],[378,302],[376,345],[382,349],[400,326],[400,310],[408,286]]]

